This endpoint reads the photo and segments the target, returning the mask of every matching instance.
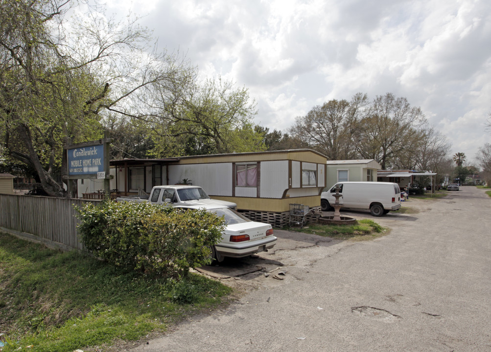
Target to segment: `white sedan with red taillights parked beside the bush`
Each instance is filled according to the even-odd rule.
[[[186,208],[200,207],[203,205],[193,205]],[[208,205],[205,208],[207,211],[217,214],[218,217],[223,216],[226,224],[221,238],[211,249],[214,260],[221,262],[224,257],[245,257],[268,251],[276,244],[277,238],[273,236],[271,225],[251,221],[226,206]]]

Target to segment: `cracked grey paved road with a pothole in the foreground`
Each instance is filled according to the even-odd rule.
[[[131,351],[491,351],[491,199],[404,206],[419,212],[377,218],[391,232],[369,242],[276,231],[274,251],[228,264],[248,272],[221,279],[237,302]]]

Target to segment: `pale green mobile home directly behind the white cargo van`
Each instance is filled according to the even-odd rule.
[[[328,160],[327,187],[341,181],[377,181],[377,172],[382,166],[375,159]]]

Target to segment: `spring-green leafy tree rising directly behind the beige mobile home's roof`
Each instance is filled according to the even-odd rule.
[[[181,83],[169,90],[154,85],[159,107],[151,116],[137,117],[152,131],[158,156],[176,156],[183,149],[173,150],[171,146],[189,142],[186,148],[192,153],[264,150],[262,135],[253,127],[255,102],[246,88],[236,88],[233,82],[220,77],[202,81],[196,69],[188,72]],[[196,142],[194,147],[192,141]]]

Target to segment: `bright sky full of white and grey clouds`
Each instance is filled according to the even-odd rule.
[[[471,161],[491,141],[490,0],[108,1],[145,16],[161,48],[245,86],[270,130],[331,99],[391,92],[422,108],[451,154]]]

